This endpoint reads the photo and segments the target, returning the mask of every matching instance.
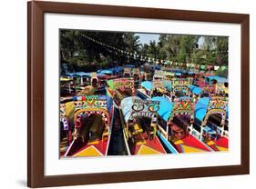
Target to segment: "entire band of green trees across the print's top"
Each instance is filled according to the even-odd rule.
[[[159,35],[159,41],[139,44],[135,33],[61,30],[60,57],[61,62],[71,63],[75,70],[87,68],[88,71],[95,66],[99,69],[132,61],[138,63],[147,57],[199,65],[228,65],[228,37]]]

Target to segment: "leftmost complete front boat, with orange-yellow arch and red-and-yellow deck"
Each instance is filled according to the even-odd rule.
[[[87,96],[73,96],[72,99],[68,99],[69,102],[72,101],[74,110],[74,138],[73,142],[69,145],[64,156],[97,156],[106,155],[108,153],[108,144],[110,138],[110,127],[112,124],[111,116],[113,115],[113,104],[108,103],[108,96],[106,95],[87,95]],[[81,132],[81,118],[83,115],[100,114],[97,119],[97,125],[93,125],[89,129],[93,134],[85,144],[85,137],[82,134],[81,138],[78,137]],[[114,116],[114,115],[113,115]],[[95,122],[94,122],[95,123]],[[100,126],[101,125],[101,126]],[[101,130],[102,129],[102,130]],[[85,132],[85,131],[84,131]],[[91,137],[91,136],[89,136]],[[81,140],[77,140],[80,138]],[[88,139],[88,138],[87,138]]]

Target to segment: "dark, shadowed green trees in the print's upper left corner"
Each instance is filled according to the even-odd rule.
[[[139,46],[134,33],[60,31],[61,60],[71,63],[76,70],[124,64],[129,60],[125,51],[138,52]]]

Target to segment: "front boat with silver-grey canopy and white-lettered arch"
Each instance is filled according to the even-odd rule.
[[[158,102],[141,100],[138,96],[122,100],[120,112],[124,115],[124,136],[130,154],[166,154],[157,136],[158,105]],[[150,118],[151,123],[147,124],[146,130],[137,123],[139,117]]]

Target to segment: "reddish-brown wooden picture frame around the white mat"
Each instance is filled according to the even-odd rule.
[[[104,184],[249,174],[249,15],[32,1],[27,5],[27,185]],[[44,174],[44,14],[106,15],[241,25],[241,164],[101,174]],[[100,178],[100,179],[99,179]]]

